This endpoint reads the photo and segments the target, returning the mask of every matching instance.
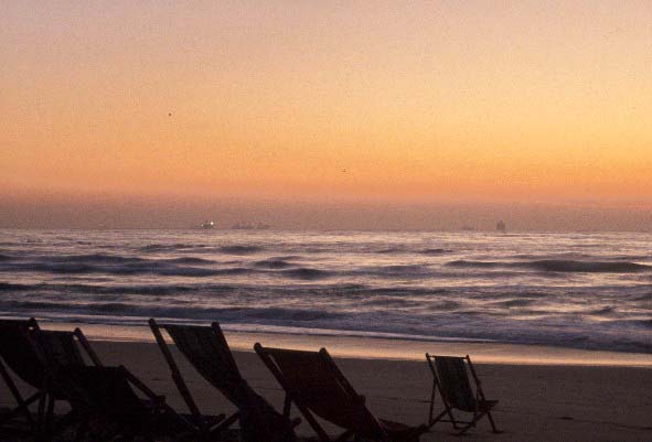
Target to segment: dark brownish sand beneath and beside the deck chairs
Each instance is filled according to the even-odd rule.
[[[175,409],[185,407],[170,378],[159,348],[142,342],[94,342],[107,365],[126,365]],[[174,352],[175,348],[173,349]],[[253,352],[234,352],[250,385],[277,408],[282,391]],[[178,355],[200,409],[206,413],[233,409]],[[431,377],[416,360],[336,358],[357,391],[378,417],[419,424],[426,420]],[[652,440],[652,369],[644,367],[477,364],[489,398],[500,399],[494,418],[501,434],[487,420],[459,436],[438,423],[421,441],[650,441]],[[3,387],[4,388],[4,387]],[[8,406],[2,395],[1,406]],[[298,414],[297,414],[298,416]],[[328,427],[327,427],[328,428]],[[330,428],[333,430],[332,428]],[[299,434],[314,435],[302,423]]]

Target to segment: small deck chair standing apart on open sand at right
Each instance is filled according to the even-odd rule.
[[[491,428],[494,433],[500,431],[495,427],[491,410],[498,405],[498,400],[487,400],[482,391],[482,385],[471,358],[456,356],[432,356],[426,353],[428,366],[432,371],[432,392],[430,395],[430,410],[428,414],[428,427],[432,427],[437,422],[451,422],[453,429],[460,430],[460,434],[467,432],[471,427],[475,427],[477,422],[484,416],[489,418]],[[467,369],[468,367],[468,369]],[[475,392],[471,387],[469,379],[469,371],[475,384]],[[443,402],[443,411],[436,417],[435,399],[437,391],[441,396]],[[460,421],[455,418],[453,409],[472,413],[470,421]],[[443,418],[448,416],[449,419]]]

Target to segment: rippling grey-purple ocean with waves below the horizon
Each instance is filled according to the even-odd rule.
[[[0,316],[652,353],[652,234],[0,230]]]

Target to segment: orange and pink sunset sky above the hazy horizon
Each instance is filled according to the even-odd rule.
[[[236,200],[646,229],[651,22],[646,0],[0,0],[0,226]]]

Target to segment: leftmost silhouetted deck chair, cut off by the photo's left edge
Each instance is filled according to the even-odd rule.
[[[33,317],[30,320],[0,320],[0,376],[17,403],[15,408],[0,417],[0,427],[18,416],[23,416],[26,423],[35,429],[35,420],[30,411],[30,406],[42,396],[43,367],[29,338],[30,333],[34,330],[39,330],[39,323]],[[10,370],[36,392],[25,398],[15,385]]]

